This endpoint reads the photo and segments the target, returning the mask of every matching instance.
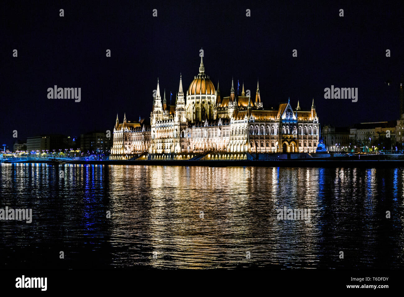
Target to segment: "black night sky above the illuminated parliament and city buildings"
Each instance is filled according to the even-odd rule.
[[[314,97],[322,125],[397,119],[404,2],[322,2],[2,3],[0,141],[12,145],[13,130],[19,139],[112,130],[116,113],[149,117],[157,77],[168,98],[180,72],[187,88],[201,47],[222,96],[232,76],[255,96],[259,77],[264,107],[290,97],[309,109]],[[80,87],[81,102],[48,99],[54,85]],[[324,99],[331,85],[358,88],[358,102]]]

